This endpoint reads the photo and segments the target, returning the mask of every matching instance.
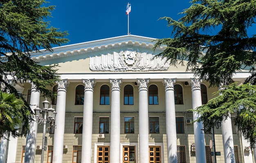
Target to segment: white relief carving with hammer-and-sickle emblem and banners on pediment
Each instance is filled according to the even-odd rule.
[[[131,49],[90,57],[92,71],[159,71],[168,70],[169,65],[166,58],[154,58],[150,53],[139,53]]]

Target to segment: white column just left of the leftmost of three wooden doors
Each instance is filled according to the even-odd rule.
[[[83,137],[81,163],[90,163],[92,160],[92,118],[93,118],[93,87],[94,79],[83,79]]]

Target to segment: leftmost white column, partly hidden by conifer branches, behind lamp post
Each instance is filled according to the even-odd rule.
[[[31,97],[30,97],[30,108],[32,112],[39,106],[40,92],[36,91],[36,86],[31,84]],[[30,134],[27,134],[26,150],[25,150],[25,163],[34,163],[36,154],[36,134],[37,134],[37,123],[31,121],[30,123]]]

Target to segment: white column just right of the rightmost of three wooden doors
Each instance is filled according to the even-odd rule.
[[[176,79],[164,79],[165,85],[165,113],[166,113],[166,137],[168,163],[177,163],[177,135],[174,87]]]

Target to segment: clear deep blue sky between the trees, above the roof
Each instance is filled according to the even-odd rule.
[[[159,18],[168,16],[177,20],[181,17],[177,13],[191,5],[190,0],[49,0],[47,5],[56,7],[48,21],[51,26],[68,31],[67,44],[127,35],[128,2],[130,33],[153,38],[171,36],[167,22]]]

